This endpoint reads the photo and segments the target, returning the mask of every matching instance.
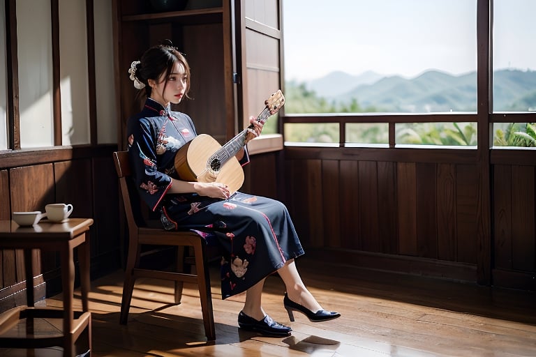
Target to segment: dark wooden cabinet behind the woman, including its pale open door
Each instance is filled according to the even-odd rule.
[[[281,88],[279,8],[279,0],[189,0],[184,10],[155,13],[149,0],[114,0],[119,147],[126,147],[126,120],[140,110],[128,68],[165,39],[191,66],[193,99],[176,109],[192,117],[198,133],[221,144],[242,130]]]

